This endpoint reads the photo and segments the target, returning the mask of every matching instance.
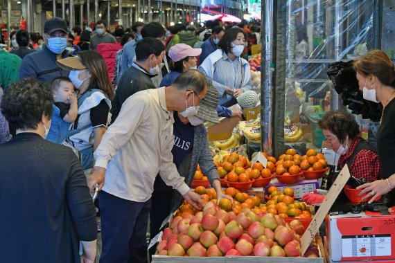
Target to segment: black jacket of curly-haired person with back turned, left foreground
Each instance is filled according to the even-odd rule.
[[[0,146],[1,262],[80,262],[79,241],[97,237],[80,161],[34,133]]]

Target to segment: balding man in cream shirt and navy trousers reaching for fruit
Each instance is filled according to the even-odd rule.
[[[100,262],[147,262],[150,198],[159,173],[195,208],[204,203],[179,175],[171,152],[173,111],[193,116],[207,93],[202,73],[179,75],[170,87],[130,96],[94,155],[89,188],[98,183],[103,251]],[[104,185],[104,187],[103,187]]]

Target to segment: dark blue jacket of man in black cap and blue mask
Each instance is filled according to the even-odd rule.
[[[67,51],[62,53],[62,58],[64,57],[67,57]],[[19,68],[19,80],[35,78],[49,84],[56,77],[69,77],[69,73],[56,64],[56,54],[44,45],[42,50],[24,57]]]

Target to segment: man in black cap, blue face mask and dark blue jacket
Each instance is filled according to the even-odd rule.
[[[68,77],[69,71],[60,68],[57,60],[67,57],[67,24],[59,17],[53,17],[44,24],[44,48],[22,60],[19,68],[19,80],[35,78],[46,84],[56,77]]]

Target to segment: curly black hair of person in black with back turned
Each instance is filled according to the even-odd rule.
[[[51,118],[52,102],[49,86],[26,78],[10,84],[1,100],[1,113],[12,129],[37,129],[43,114]]]

